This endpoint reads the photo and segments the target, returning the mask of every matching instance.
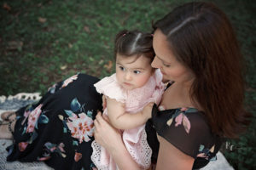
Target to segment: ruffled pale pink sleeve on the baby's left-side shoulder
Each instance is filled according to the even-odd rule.
[[[125,103],[125,89],[119,86],[116,80],[116,74],[110,77],[104,77],[101,81],[94,84],[96,91],[99,94],[104,94],[111,99],[116,99],[119,102]]]

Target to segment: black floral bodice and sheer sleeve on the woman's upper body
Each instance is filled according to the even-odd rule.
[[[217,160],[216,154],[224,141],[211,133],[204,113],[195,108],[163,111],[154,105],[152,118],[147,122],[146,130],[148,143],[153,150],[153,162],[156,162],[158,156],[158,134],[184,154],[195,158],[193,169],[200,169],[209,161]]]

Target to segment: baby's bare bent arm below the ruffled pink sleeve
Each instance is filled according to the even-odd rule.
[[[149,103],[143,111],[131,114],[125,112],[125,104],[107,97],[108,117],[113,127],[131,129],[143,125],[151,117],[154,103]]]

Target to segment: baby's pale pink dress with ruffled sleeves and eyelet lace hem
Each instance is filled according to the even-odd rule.
[[[149,102],[154,102],[157,105],[160,103],[161,95],[164,92],[164,84],[160,70],[156,70],[154,75],[149,78],[148,82],[142,88],[133,90],[125,90],[119,86],[116,80],[116,75],[105,77],[94,86],[96,91],[104,94],[111,99],[116,99],[119,102],[125,103],[125,111],[131,114],[142,111],[143,107]],[[107,109],[103,114],[108,115]],[[147,134],[145,132],[145,125],[136,127],[122,132],[122,138],[126,149],[131,154],[134,161],[144,169],[147,169],[151,164],[152,150],[147,142]],[[96,141],[92,144],[93,153],[91,160],[98,169],[116,170],[119,169],[112,156]]]

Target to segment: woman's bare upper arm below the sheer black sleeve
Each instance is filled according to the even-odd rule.
[[[156,170],[173,169],[186,170],[192,169],[195,159],[178,150],[166,139],[158,136],[160,150],[158,154]]]

